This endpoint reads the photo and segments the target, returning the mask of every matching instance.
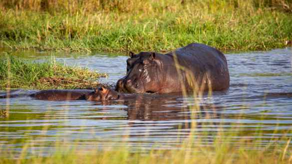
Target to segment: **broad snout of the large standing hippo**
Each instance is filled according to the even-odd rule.
[[[144,93],[144,86],[140,80],[120,79],[116,84],[116,91],[130,92],[130,93]]]

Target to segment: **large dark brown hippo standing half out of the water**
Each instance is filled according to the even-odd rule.
[[[167,54],[129,53],[127,75],[118,80],[116,91],[180,92],[229,88],[229,71],[224,54],[216,48],[191,43]],[[183,84],[183,85],[182,85]]]

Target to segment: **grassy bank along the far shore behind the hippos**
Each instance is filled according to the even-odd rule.
[[[0,0],[15,49],[167,51],[192,42],[259,50],[292,42],[289,0]]]

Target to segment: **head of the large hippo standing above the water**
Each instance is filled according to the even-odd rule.
[[[161,88],[162,74],[155,53],[129,53],[127,75],[118,80],[116,91],[131,93],[156,92]]]

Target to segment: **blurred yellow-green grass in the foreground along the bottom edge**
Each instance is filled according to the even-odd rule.
[[[56,119],[56,116],[51,119]],[[208,125],[214,126],[205,123],[205,126]],[[167,150],[167,144],[164,147],[154,145],[149,151],[144,148],[148,147],[145,143],[138,149],[131,150],[131,145],[125,142],[127,138],[121,138],[122,146],[110,148],[98,147],[97,141],[97,145],[88,145],[90,141],[78,138],[73,143],[66,143],[65,137],[60,133],[56,135],[58,138],[55,137],[55,142],[47,142],[47,146],[38,146],[33,138],[18,143],[21,153],[13,152],[12,148],[1,152],[0,164],[292,164],[291,139],[286,137],[286,134],[291,134],[291,130],[287,130],[282,137],[273,135],[267,142],[267,138],[262,136],[260,126],[254,133],[249,131],[252,134],[249,136],[244,136],[245,127],[239,124],[230,127],[234,130],[233,133],[225,133],[226,128],[218,126],[214,132],[202,131],[201,135],[192,135],[200,128],[193,121],[188,136],[177,134],[178,138],[185,139],[176,148]],[[28,126],[23,128],[31,130]],[[48,126],[43,126],[42,129],[42,134],[45,135]],[[276,129],[274,134],[279,132]],[[13,140],[2,142],[11,144]],[[103,142],[102,138],[99,142]],[[260,147],[261,143],[266,146]]]

